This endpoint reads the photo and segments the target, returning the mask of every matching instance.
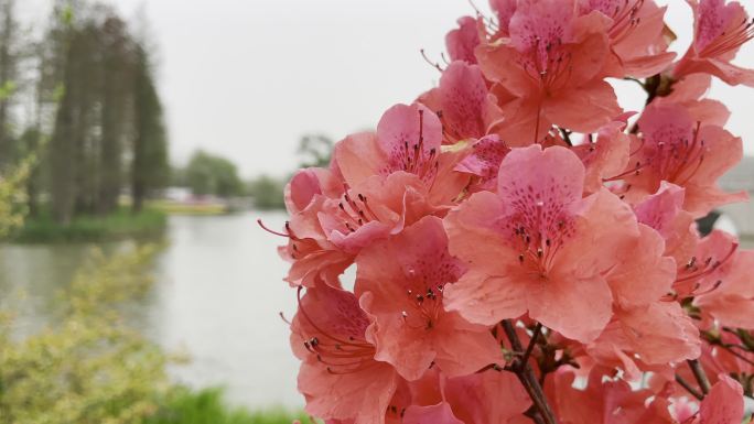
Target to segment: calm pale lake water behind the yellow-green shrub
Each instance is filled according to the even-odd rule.
[[[176,381],[224,385],[230,401],[251,407],[300,406],[298,361],[278,315],[292,316],[295,292],[281,281],[286,264],[274,249],[281,240],[260,230],[257,217],[274,228],[286,219],[280,213],[171,217],[154,290],[127,313],[166,349],[191,356],[188,365],[171,369]],[[54,320],[61,290],[93,247],[0,247],[0,302],[13,303],[20,312],[19,333]]]

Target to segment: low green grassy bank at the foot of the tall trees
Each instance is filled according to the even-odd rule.
[[[55,222],[49,213],[28,217],[23,227],[11,235],[17,242],[68,242],[107,241],[123,238],[139,238],[159,235],[168,222],[166,215],[157,209],[146,208],[131,214],[126,207],[104,216],[78,216],[71,224]]]

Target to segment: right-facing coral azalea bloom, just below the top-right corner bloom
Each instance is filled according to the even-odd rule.
[[[638,202],[656,193],[663,181],[683,187],[683,209],[694,218],[713,207],[742,202],[746,194],[728,194],[718,178],[741,161],[742,141],[715,124],[694,122],[679,105],[649,105],[638,120],[639,145],[624,180],[626,198]]]

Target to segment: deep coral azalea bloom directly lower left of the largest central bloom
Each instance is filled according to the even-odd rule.
[[[426,217],[400,235],[376,242],[356,258],[356,293],[374,317],[367,335],[375,358],[407,380],[432,365],[445,376],[465,376],[503,360],[486,326],[442,307],[443,291],[463,273],[448,252],[442,220]]]

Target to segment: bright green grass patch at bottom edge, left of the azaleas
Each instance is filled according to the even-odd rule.
[[[282,409],[249,412],[230,407],[223,400],[219,389],[198,392],[176,389],[160,411],[144,424],[291,424],[293,420],[309,423],[303,413]]]

